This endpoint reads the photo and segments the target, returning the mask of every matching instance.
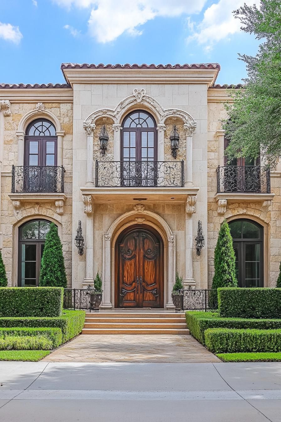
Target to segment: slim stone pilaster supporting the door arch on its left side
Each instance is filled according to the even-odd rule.
[[[102,242],[102,304],[100,308],[102,309],[111,309],[111,237],[109,235],[103,235],[103,242]]]

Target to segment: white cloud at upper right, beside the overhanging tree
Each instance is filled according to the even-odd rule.
[[[247,0],[247,5],[252,6],[257,3],[255,0]],[[219,0],[212,4],[204,12],[202,22],[195,24],[190,20],[187,22],[192,35],[187,38],[187,42],[196,41],[204,46],[206,52],[211,51],[218,41],[227,39],[240,31],[241,22],[233,16],[233,10],[244,5],[244,0]]]

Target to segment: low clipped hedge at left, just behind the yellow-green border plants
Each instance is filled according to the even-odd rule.
[[[24,327],[11,327],[0,328],[0,338],[8,336],[27,337],[27,336],[43,336],[51,341],[52,349],[59,347],[62,344],[62,330],[60,328],[24,328]],[[36,349],[36,347],[35,347]],[[21,350],[21,349],[18,349]],[[22,348],[24,350],[24,348]]]

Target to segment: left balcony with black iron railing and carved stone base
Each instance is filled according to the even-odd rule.
[[[12,166],[9,194],[16,213],[23,202],[54,203],[56,213],[64,214],[64,168],[62,166]]]

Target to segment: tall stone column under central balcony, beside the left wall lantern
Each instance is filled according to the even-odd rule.
[[[94,283],[94,204],[91,195],[83,195],[84,213],[86,214],[86,278],[83,286]]]

